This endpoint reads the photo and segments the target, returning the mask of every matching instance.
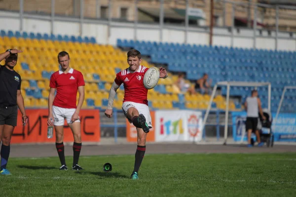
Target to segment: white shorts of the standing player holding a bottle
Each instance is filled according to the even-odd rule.
[[[67,120],[68,124],[72,123],[71,118],[75,110],[76,110],[75,108],[69,109],[69,108],[52,106],[52,115],[54,118],[53,124],[55,126],[63,126],[65,123],[65,119]],[[75,122],[80,122],[80,120],[78,119]]]

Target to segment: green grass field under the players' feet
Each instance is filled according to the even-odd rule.
[[[67,157],[68,166],[72,158]],[[110,173],[103,164],[112,164]],[[296,194],[296,154],[146,155],[139,180],[134,156],[81,157],[84,168],[59,171],[55,158],[11,158],[1,197],[289,197]]]

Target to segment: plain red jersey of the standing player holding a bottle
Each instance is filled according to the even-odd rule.
[[[50,88],[55,88],[57,94],[53,105],[63,108],[76,108],[76,97],[79,86],[84,86],[81,72],[71,68],[67,74],[61,70],[54,72],[50,77]]]

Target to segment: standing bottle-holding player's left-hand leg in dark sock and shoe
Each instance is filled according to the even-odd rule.
[[[60,170],[67,170],[67,164],[65,160],[65,147],[64,147],[64,125],[63,126],[54,126],[56,133],[56,148],[61,162]]]

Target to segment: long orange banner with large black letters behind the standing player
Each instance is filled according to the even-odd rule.
[[[27,109],[28,123],[23,126],[22,114],[18,111],[17,126],[14,128],[11,143],[43,143],[55,142],[54,136],[47,138],[47,109]],[[81,123],[82,142],[99,142],[100,134],[100,115],[99,110],[81,109],[79,113]],[[64,142],[74,142],[73,134],[65,120],[64,125]]]

